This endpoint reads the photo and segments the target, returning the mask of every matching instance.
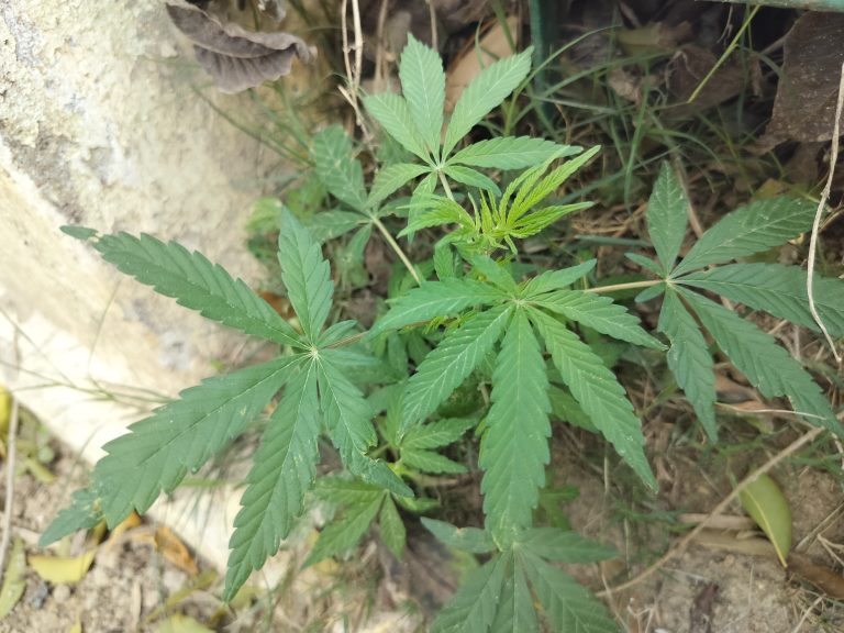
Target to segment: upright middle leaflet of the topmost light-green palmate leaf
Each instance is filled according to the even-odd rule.
[[[445,108],[445,73],[435,51],[408,35],[401,53],[399,79],[410,114],[433,156],[440,149]]]

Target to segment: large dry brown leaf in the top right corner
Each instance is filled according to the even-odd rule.
[[[844,13],[804,13],[788,32],[784,47],[774,114],[759,140],[760,151],[785,141],[817,143],[832,138],[844,63]]]

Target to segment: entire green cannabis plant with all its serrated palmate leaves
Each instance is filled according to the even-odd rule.
[[[143,513],[188,473],[224,451],[267,406],[274,409],[245,481],[234,521],[224,598],[230,600],[273,556],[303,512],[310,490],[334,519],[306,564],[349,551],[378,525],[401,556],[402,519],[430,513],[421,493],[432,478],[467,471],[462,446],[479,441],[484,525],[423,524],[448,547],[480,557],[433,631],[604,632],[609,611],[560,563],[595,563],[614,552],[577,533],[535,522],[548,493],[552,421],[602,436],[649,489],[656,480],[642,422],[611,369],[611,340],[659,354],[697,417],[717,440],[713,351],[722,351],[765,397],[786,396],[811,424],[844,436],[828,399],[800,363],[721,297],[817,329],[803,273],[777,264],[734,263],[793,238],[811,224],[800,199],[758,200],[711,227],[679,263],[688,202],[666,166],[647,222],[657,258],[630,254],[654,279],[638,301],[663,296],[656,327],[670,344],[600,286],[596,260],[537,270],[520,243],[587,202],[563,204],[562,188],[599,152],[532,137],[466,143],[489,112],[530,80],[531,52],[489,66],[444,116],[440,57],[412,37],[401,57],[403,96],[364,103],[395,152],[376,156],[367,187],[354,143],[340,126],[315,135],[318,208],[279,215],[278,263],[296,320],[287,321],[243,281],[176,243],[149,235],[100,235],[73,227],[123,273],[208,319],[267,341],[278,357],[210,378],[133,424],[106,445],[90,485],[75,493],[42,542],[100,521],[114,526]],[[513,97],[515,98],[515,97]],[[519,171],[519,173],[514,173]],[[404,193],[409,193],[404,195]],[[407,218],[404,220],[404,218]],[[388,308],[364,331],[336,321],[334,282],[323,243],[363,258],[376,229],[407,268],[390,282]],[[401,236],[424,231],[430,260],[413,263]],[[818,279],[818,308],[844,334],[842,282]],[[707,340],[706,332],[715,348]],[[343,473],[315,481],[326,437]],[[447,453],[443,453],[446,451]],[[465,454],[465,452],[464,452]],[[545,624],[542,624],[544,622]]]

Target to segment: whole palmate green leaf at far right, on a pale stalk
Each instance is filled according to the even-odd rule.
[[[636,300],[647,301],[665,295],[658,330],[671,343],[668,367],[707,434],[712,441],[718,438],[713,362],[701,325],[764,397],[787,397],[795,412],[807,422],[844,437],[844,427],[829,399],[800,363],[770,334],[734,310],[692,290],[720,295],[818,332],[809,310],[806,273],[801,268],[762,263],[722,265],[780,246],[809,231],[815,206],[790,197],[752,202],[709,229],[677,264],[688,207],[681,184],[669,166],[664,165],[647,209],[647,226],[657,259],[636,254],[628,256],[659,279]],[[818,277],[814,284],[821,319],[832,336],[844,336],[844,281]]]

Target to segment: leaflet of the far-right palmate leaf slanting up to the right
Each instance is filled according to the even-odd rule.
[[[814,208],[808,200],[784,196],[736,209],[701,235],[671,277],[785,244],[811,229]]]

